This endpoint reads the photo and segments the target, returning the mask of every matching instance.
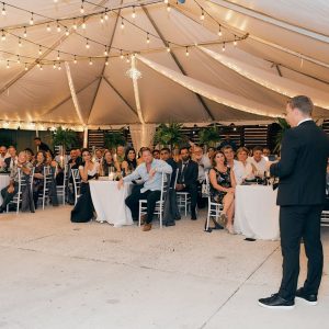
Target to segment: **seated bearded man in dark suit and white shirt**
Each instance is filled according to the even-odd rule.
[[[196,202],[197,202],[197,174],[198,166],[190,158],[188,147],[180,149],[181,160],[178,162],[178,179],[175,191],[189,192],[191,194],[191,219],[196,219]]]

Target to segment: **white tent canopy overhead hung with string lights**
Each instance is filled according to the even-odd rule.
[[[313,98],[316,117],[329,117],[326,1],[4,3],[3,126],[260,122],[299,93]],[[126,75],[132,68],[140,79]]]

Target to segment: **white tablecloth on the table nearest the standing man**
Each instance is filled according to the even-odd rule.
[[[276,194],[272,186],[237,185],[235,231],[248,238],[279,239]]]

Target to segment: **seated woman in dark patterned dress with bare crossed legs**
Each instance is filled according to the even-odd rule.
[[[236,180],[232,170],[226,166],[225,155],[216,151],[209,171],[211,200],[223,204],[223,212],[218,224],[225,227],[229,234],[234,234],[232,218],[235,213]]]

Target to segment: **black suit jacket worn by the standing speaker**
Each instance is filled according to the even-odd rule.
[[[325,203],[329,137],[314,121],[288,129],[282,140],[281,160],[271,166],[280,178],[277,205]]]

